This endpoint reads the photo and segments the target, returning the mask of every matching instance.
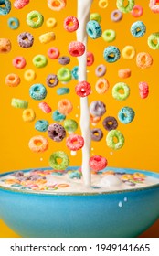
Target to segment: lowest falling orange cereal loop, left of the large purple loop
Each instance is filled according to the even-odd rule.
[[[44,152],[48,149],[48,139],[40,135],[32,137],[28,143],[28,147],[33,152]]]

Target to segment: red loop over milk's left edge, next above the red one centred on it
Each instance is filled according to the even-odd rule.
[[[69,43],[69,54],[73,57],[79,57],[85,52],[85,46],[79,41],[72,41]]]

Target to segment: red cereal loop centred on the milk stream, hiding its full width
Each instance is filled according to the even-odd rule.
[[[80,81],[75,87],[76,94],[80,97],[86,97],[90,94],[90,83],[86,80]]]

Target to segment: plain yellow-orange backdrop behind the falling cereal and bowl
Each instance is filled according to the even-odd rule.
[[[83,0],[84,1],[84,0]],[[12,3],[14,1],[11,1]],[[127,1],[125,1],[126,3]],[[105,9],[101,9],[98,5],[98,1],[94,0],[91,7],[91,13],[97,12],[101,14],[101,27],[105,29],[114,29],[116,31],[116,39],[111,42],[105,42],[102,37],[97,40],[89,38],[88,50],[93,52],[95,56],[94,64],[88,67],[88,81],[91,84],[92,92],[89,96],[89,101],[101,100],[104,101],[107,106],[107,112],[103,118],[108,115],[112,115],[117,118],[117,113],[124,106],[130,106],[135,111],[135,118],[132,123],[127,125],[119,122],[118,129],[124,134],[125,144],[121,150],[113,151],[107,147],[105,137],[107,131],[104,130],[104,138],[100,143],[92,142],[92,155],[103,155],[108,159],[110,166],[118,167],[131,167],[136,169],[152,170],[159,172],[158,169],[158,152],[159,152],[159,136],[157,134],[158,121],[158,109],[159,109],[159,86],[158,86],[158,58],[159,51],[153,50],[147,45],[147,38],[151,33],[158,32],[159,15],[154,14],[149,6],[148,1],[145,1],[143,6],[143,16],[139,18],[133,17],[131,14],[123,14],[122,21],[112,22],[111,12],[116,9],[116,1],[109,1],[109,5]],[[136,0],[136,5],[143,5],[142,0]],[[44,16],[44,24],[38,29],[33,29],[26,25],[26,15],[32,10],[37,10]],[[16,10],[12,7],[11,12],[7,16],[0,16],[0,31],[1,37],[9,38],[12,42],[12,50],[8,54],[0,55],[0,136],[1,136],[1,161],[0,161],[0,173],[16,170],[26,169],[34,167],[48,166],[48,158],[56,150],[64,150],[69,156],[69,150],[66,148],[65,142],[59,144],[49,140],[49,148],[43,154],[32,153],[27,144],[32,136],[38,133],[34,124],[25,123],[22,120],[22,109],[16,109],[11,107],[11,99],[17,98],[29,101],[29,108],[33,108],[36,112],[36,121],[38,119],[47,119],[49,123],[53,123],[51,114],[45,114],[38,108],[38,101],[34,101],[29,97],[29,87],[34,83],[42,83],[46,85],[46,77],[50,73],[56,73],[61,67],[58,64],[58,60],[48,59],[47,67],[43,69],[37,69],[32,59],[37,54],[43,54],[47,56],[48,48],[57,47],[60,50],[60,56],[69,55],[68,44],[71,40],[76,40],[76,33],[68,33],[63,28],[63,20],[66,16],[76,16],[77,14],[77,1],[67,1],[67,7],[60,11],[54,12],[48,8],[47,1],[30,1],[29,5],[21,10]],[[12,30],[7,26],[7,19],[9,17],[16,16],[20,21],[20,26],[16,30]],[[55,17],[58,21],[58,26],[50,29],[46,26],[46,20],[48,17]],[[135,38],[130,33],[130,27],[136,20],[141,20],[146,25],[146,33],[143,37]],[[17,44],[17,36],[22,32],[30,32],[35,37],[35,43],[32,48],[20,48]],[[54,31],[56,34],[56,40],[46,45],[39,42],[38,37],[48,31]],[[136,54],[141,51],[148,52],[152,55],[154,63],[149,69],[140,69],[136,66],[135,58],[127,60],[119,59],[117,62],[110,64],[105,62],[102,57],[103,49],[109,45],[114,45],[122,48],[127,45],[131,45],[135,48]],[[23,56],[26,59],[25,69],[16,69],[12,65],[12,59],[16,56]],[[98,80],[95,76],[95,68],[99,64],[105,64],[107,67],[107,73],[105,78],[110,82],[110,89],[104,95],[99,95],[95,89],[95,82]],[[68,65],[69,69],[72,69],[75,65],[78,65],[76,58],[71,58]],[[132,76],[129,79],[122,80],[118,77],[118,70],[129,68],[132,70]],[[37,78],[33,82],[28,82],[24,79],[24,71],[26,69],[34,69],[37,73]],[[16,88],[11,88],[5,85],[5,77],[8,73],[16,73],[21,78],[21,83]],[[124,81],[131,88],[130,97],[126,101],[116,101],[111,96],[111,89],[117,82]],[[149,84],[150,94],[147,99],[142,100],[139,96],[138,84],[140,81],[146,81]],[[71,80],[68,86],[70,93],[64,96],[58,96],[56,93],[57,88],[64,86],[58,84],[57,88],[46,88],[48,90],[47,101],[52,110],[57,109],[58,101],[67,98],[72,101],[74,109],[69,114],[69,118],[80,120],[80,99],[75,95],[74,86],[76,80]],[[101,123],[97,127],[102,127]],[[91,126],[93,128],[93,126]],[[80,128],[78,132],[80,133]],[[43,133],[47,137],[47,133]],[[81,153],[78,152],[77,156],[70,156],[70,165],[80,165]],[[152,231],[153,230],[153,231]],[[146,232],[147,237],[158,237],[159,226],[156,223],[152,229]],[[0,237],[16,237],[16,234],[8,229],[5,224],[0,222]]]

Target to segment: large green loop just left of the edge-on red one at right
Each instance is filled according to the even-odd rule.
[[[122,90],[123,93],[121,93],[120,90]],[[124,82],[118,82],[112,88],[112,97],[117,101],[124,101],[129,97],[129,95],[130,88]]]

